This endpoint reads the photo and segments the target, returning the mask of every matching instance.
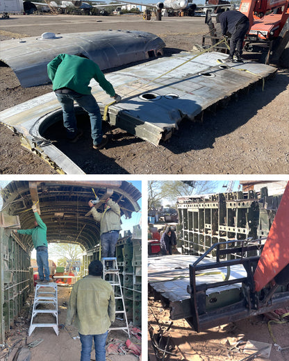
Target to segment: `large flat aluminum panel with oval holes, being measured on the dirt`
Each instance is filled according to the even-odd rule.
[[[183,53],[106,74],[123,98],[121,103],[108,108],[109,123],[158,145],[178,129],[182,119],[193,120],[206,108],[276,72],[274,67],[254,62],[231,63],[224,69],[217,60],[226,55],[217,52],[190,60],[193,56]],[[185,65],[177,67],[184,62]],[[170,69],[174,70],[165,74]],[[91,85],[103,111],[111,98],[95,81]],[[147,94],[155,94],[156,98],[145,99]],[[170,94],[175,97],[172,99]],[[37,144],[60,112],[55,94],[49,93],[3,110],[0,120],[24,135],[28,148],[36,149],[42,158],[49,158],[53,167],[67,174],[83,173],[53,144],[45,147]]]

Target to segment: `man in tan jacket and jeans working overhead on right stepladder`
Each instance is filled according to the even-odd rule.
[[[89,201],[88,205],[92,208],[94,204]],[[112,199],[106,199],[104,212],[98,212],[92,208],[92,217],[95,221],[100,222],[100,241],[101,241],[101,258],[115,257],[115,246],[119,237],[119,230],[122,229],[120,220],[120,208]],[[109,261],[106,266],[111,268],[113,262]]]

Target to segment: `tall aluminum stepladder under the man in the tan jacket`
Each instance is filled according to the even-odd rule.
[[[129,333],[129,324],[126,317],[126,308],[124,304],[124,294],[122,292],[122,284],[120,282],[119,269],[117,267],[117,258],[115,257],[106,257],[101,258],[103,265],[103,278],[110,285],[112,285],[113,290],[115,292],[115,318],[122,321],[122,326],[114,326],[112,325],[109,330],[123,330],[126,332],[129,337],[131,337]],[[109,265],[106,267],[106,265]],[[119,300],[119,301],[118,301]]]

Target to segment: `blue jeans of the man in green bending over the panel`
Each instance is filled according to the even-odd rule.
[[[77,133],[77,121],[74,113],[74,101],[81,106],[90,116],[91,137],[93,144],[99,144],[102,140],[102,119],[97,101],[92,94],[69,94],[56,93],[57,99],[63,108],[63,125],[67,131],[67,137],[73,139]]]

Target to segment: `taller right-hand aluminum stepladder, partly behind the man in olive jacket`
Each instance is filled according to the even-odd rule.
[[[126,308],[124,305],[124,295],[122,293],[122,285],[120,283],[119,278],[119,269],[117,267],[117,258],[115,257],[106,257],[101,258],[103,269],[103,278],[106,280],[110,285],[113,286],[113,290],[115,292],[115,300],[122,300],[122,310],[115,310],[115,316],[117,317],[118,314],[123,314],[123,319],[125,321],[126,326],[122,327],[110,327],[109,330],[124,330],[129,337],[131,337],[129,333],[129,324],[126,317]],[[106,262],[112,262],[112,267],[106,269]],[[108,275],[108,276],[106,276]]]

